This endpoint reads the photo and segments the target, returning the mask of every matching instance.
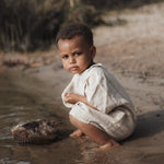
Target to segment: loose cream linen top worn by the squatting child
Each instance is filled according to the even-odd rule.
[[[89,104],[96,107],[101,113],[108,114],[118,106],[126,106],[134,113],[130,97],[119,82],[105,69],[102,63],[95,63],[81,74],[74,74],[69,85],[62,92],[75,93],[86,96]],[[74,105],[63,104],[72,108]],[[77,103],[75,105],[79,105]],[[87,107],[85,105],[85,107]]]

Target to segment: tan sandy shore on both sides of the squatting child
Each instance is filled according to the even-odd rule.
[[[137,109],[138,125],[132,137],[124,141],[121,147],[104,152],[94,151],[96,145],[83,137],[80,140],[83,155],[81,163],[163,164],[163,10],[164,3],[145,5],[119,14],[119,19],[127,21],[124,26],[99,26],[94,30],[97,47],[95,61],[102,62],[126,87]],[[116,17],[115,13],[104,19],[109,21]],[[14,69],[22,69],[24,75],[43,81],[43,92],[62,106],[60,94],[71,80],[71,74],[61,68],[57,57],[47,66],[33,69],[21,66]],[[67,110],[63,106],[61,108]]]

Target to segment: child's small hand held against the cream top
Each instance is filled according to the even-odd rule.
[[[65,102],[70,104],[75,104],[77,102],[81,102],[82,96],[75,93],[66,93]]]

